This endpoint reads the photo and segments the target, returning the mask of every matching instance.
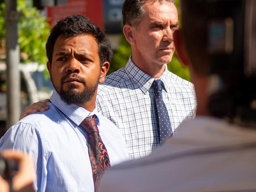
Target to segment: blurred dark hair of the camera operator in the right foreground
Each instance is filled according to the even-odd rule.
[[[189,60],[197,75],[205,76],[209,70],[209,59],[207,54],[208,25],[204,3],[195,4],[192,0],[181,0],[180,8],[182,36]]]

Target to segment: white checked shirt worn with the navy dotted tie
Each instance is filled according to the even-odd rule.
[[[193,84],[167,70],[160,79],[165,89],[163,101],[174,130],[195,115]],[[130,159],[144,157],[159,145],[154,108],[154,78],[141,71],[129,58],[125,67],[106,77],[98,86],[98,110],[111,120],[124,136]]]

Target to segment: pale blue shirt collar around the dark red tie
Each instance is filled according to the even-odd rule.
[[[96,122],[98,125],[100,125],[99,115],[96,109],[90,112],[84,109],[83,107],[80,107],[76,104],[70,104],[68,105],[63,100],[61,100],[58,92],[56,90],[53,91],[52,96],[50,98],[51,103],[53,103],[62,113],[64,113],[67,117],[70,118],[77,126],[81,124],[81,122],[88,116],[96,115]]]

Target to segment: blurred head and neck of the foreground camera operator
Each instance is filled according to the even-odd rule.
[[[197,95],[197,115],[207,115],[208,70],[207,50],[208,21],[204,3],[181,0],[182,29],[175,31],[174,42],[177,54],[184,65],[189,66],[191,80]]]

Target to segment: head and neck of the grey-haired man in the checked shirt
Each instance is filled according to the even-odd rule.
[[[163,69],[175,50],[173,33],[178,12],[173,0],[125,0],[123,32],[132,46],[132,60],[144,72]]]

